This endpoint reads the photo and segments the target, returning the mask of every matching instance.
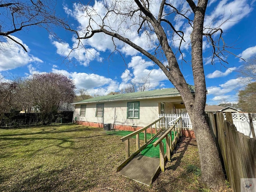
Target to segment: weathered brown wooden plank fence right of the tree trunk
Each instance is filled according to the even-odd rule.
[[[232,114],[226,113],[226,119],[232,119]],[[256,178],[256,139],[238,132],[222,112],[208,113],[208,122],[230,186],[240,192],[241,178]]]

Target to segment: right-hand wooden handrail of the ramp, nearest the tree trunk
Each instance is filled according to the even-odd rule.
[[[182,117],[174,120],[174,124],[168,128],[168,130],[164,131],[162,136],[156,140],[153,145],[156,147],[159,144],[159,154],[160,154],[160,168],[161,171],[164,172],[164,163],[165,157],[168,160],[171,160],[171,153],[173,152],[176,143],[178,142],[180,136],[182,135]],[[172,133],[174,134],[174,139],[172,140]],[[162,142],[163,139],[166,139],[166,154],[164,154],[164,143]]]

